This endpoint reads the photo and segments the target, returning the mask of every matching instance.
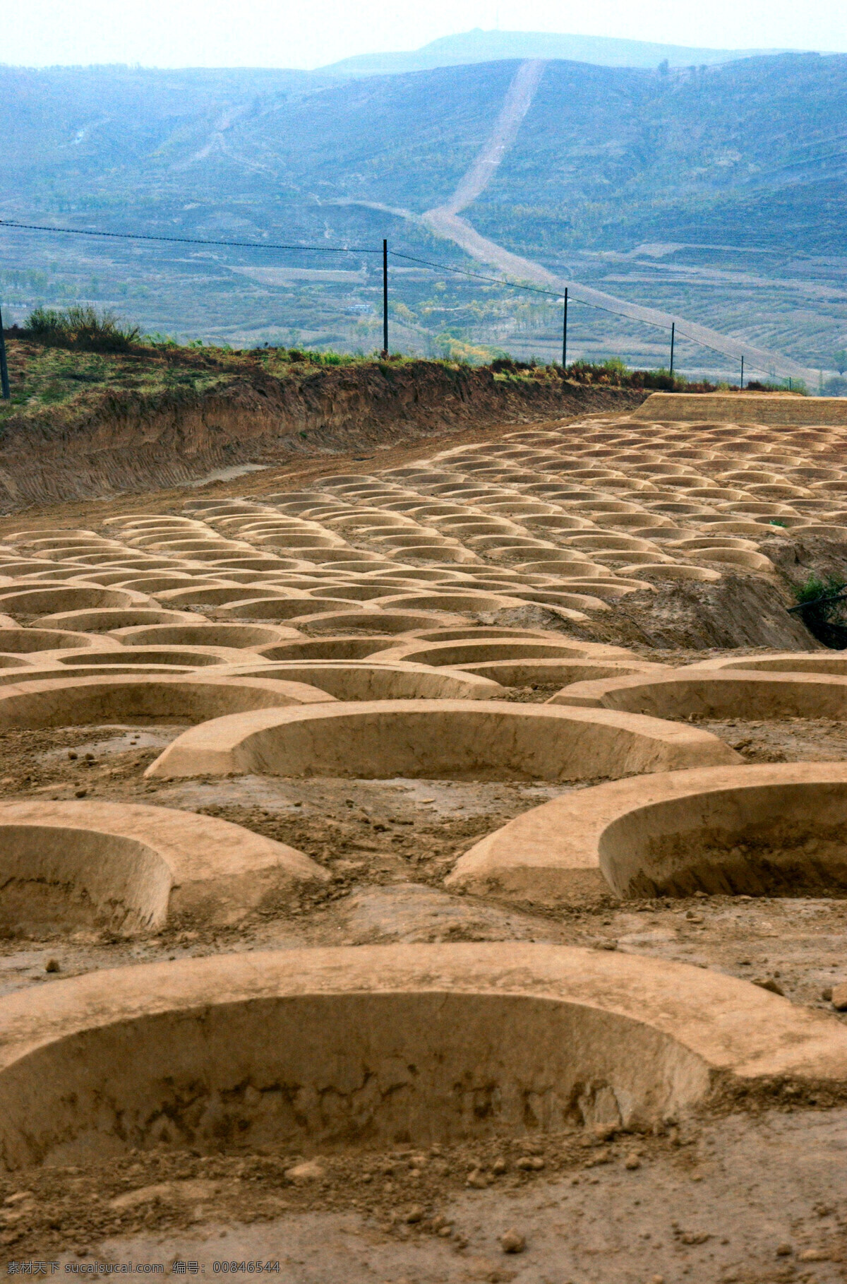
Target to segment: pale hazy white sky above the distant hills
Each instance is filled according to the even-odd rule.
[[[0,60],[320,67],[471,27],[847,51],[847,0],[6,0]]]

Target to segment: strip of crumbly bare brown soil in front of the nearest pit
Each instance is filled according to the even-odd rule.
[[[291,1284],[829,1284],[843,1279],[847,1258],[833,1190],[838,1147],[821,1150],[825,1121],[835,1120],[842,1138],[843,1111],[784,1102],[649,1138],[574,1130],[520,1144],[323,1156],[299,1181],[286,1175],[303,1159],[294,1153],[137,1153],[117,1171],[54,1168],[26,1186],[4,1184],[0,1242],[27,1221],[38,1233],[18,1238],[18,1260],[33,1253],[71,1270],[163,1262],[167,1274],[175,1258],[204,1274],[216,1261],[278,1261],[277,1278]],[[792,1181],[798,1171],[805,1180]],[[509,1230],[524,1240],[518,1253],[503,1252]]]

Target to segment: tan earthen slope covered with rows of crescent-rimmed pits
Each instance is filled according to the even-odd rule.
[[[842,1279],[839,417],[0,519],[13,1274]]]

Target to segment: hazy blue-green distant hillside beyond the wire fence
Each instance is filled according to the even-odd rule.
[[[844,348],[842,55],[662,74],[548,62],[466,217],[563,280],[708,325],[837,376]],[[420,223],[448,202],[517,71],[493,62],[339,80],[289,72],[0,69],[15,128],[0,207],[23,222],[346,245],[470,267]],[[331,258],[331,262],[330,262]],[[371,351],[379,257],[121,247],[4,230],[0,286],[131,308],[150,331]],[[398,349],[461,340],[556,356],[554,299],[393,263]],[[572,356],[666,365],[667,335],[575,308]],[[678,351],[679,369],[735,366]],[[770,371],[764,370],[767,375]]]

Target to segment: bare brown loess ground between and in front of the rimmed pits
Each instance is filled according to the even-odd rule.
[[[495,435],[466,425],[453,442]],[[426,457],[425,446],[409,442],[359,443],[201,490],[30,507],[26,525],[98,526],[128,511],[178,512],[198,493],[295,489],[358,469],[377,448],[380,467]],[[0,538],[21,524],[21,516],[0,519]],[[730,646],[734,656],[756,655],[779,642],[756,636],[747,620],[740,637],[726,641],[738,583],[743,577],[726,577],[714,591],[726,597],[712,601],[708,628],[701,629],[703,597],[663,587],[652,603],[633,594],[617,611],[562,629],[672,665],[730,654]],[[757,601],[749,598],[749,621]],[[516,687],[506,698],[542,701],[554,690]],[[839,722],[699,725],[752,763],[847,758]],[[149,722],[4,731],[0,799],[92,797],[203,811],[299,847],[331,872],[331,882],[237,928],[184,919],[130,941],[62,923],[45,905],[41,930],[6,923],[0,933],[0,994],[139,962],[395,941],[520,940],[652,955],[743,977],[830,1013],[832,987],[847,981],[847,895],[837,889],[625,903],[610,892],[544,913],[444,889],[457,856],[484,833],[598,781],[145,781],[145,768],[184,729]],[[835,1019],[847,1022],[847,1014]],[[776,1091],[726,1102],[683,1127],[669,1121],[651,1135],[574,1127],[472,1147],[137,1152],[0,1177],[0,1270],[8,1270],[4,1261],[42,1261],[60,1263],[63,1274],[107,1275],[132,1262],[162,1263],[171,1276],[193,1274],[181,1263],[196,1263],[208,1276],[221,1272],[216,1262],[227,1263],[225,1274],[255,1274],[248,1263],[258,1261],[278,1262],[270,1274],[284,1284],[838,1284],[847,1280],[846,1157],[842,1102]],[[308,1175],[286,1175],[304,1161],[316,1161]],[[502,1240],[509,1231],[513,1252]]]

